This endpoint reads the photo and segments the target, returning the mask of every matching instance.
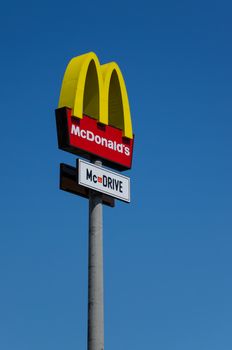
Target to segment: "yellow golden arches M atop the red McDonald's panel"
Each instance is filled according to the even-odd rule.
[[[117,63],[100,65],[95,53],[74,57],[61,86],[59,108],[69,107],[72,115],[83,114],[123,131],[133,139],[130,106],[123,75]]]

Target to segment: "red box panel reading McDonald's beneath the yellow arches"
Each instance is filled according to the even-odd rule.
[[[69,108],[57,109],[56,121],[59,148],[87,158],[97,156],[119,170],[131,168],[133,140],[123,137],[122,130],[85,115],[72,117]]]

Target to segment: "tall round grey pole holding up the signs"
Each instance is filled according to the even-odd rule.
[[[101,166],[96,160],[94,164]],[[104,350],[102,195],[89,194],[88,350]]]

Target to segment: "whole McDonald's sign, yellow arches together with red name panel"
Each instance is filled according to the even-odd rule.
[[[60,149],[96,156],[119,170],[130,169],[134,135],[126,85],[115,62],[100,65],[95,53],[69,62],[56,109]]]

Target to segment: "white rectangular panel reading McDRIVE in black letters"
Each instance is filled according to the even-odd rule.
[[[130,178],[79,159],[79,185],[130,202]]]

